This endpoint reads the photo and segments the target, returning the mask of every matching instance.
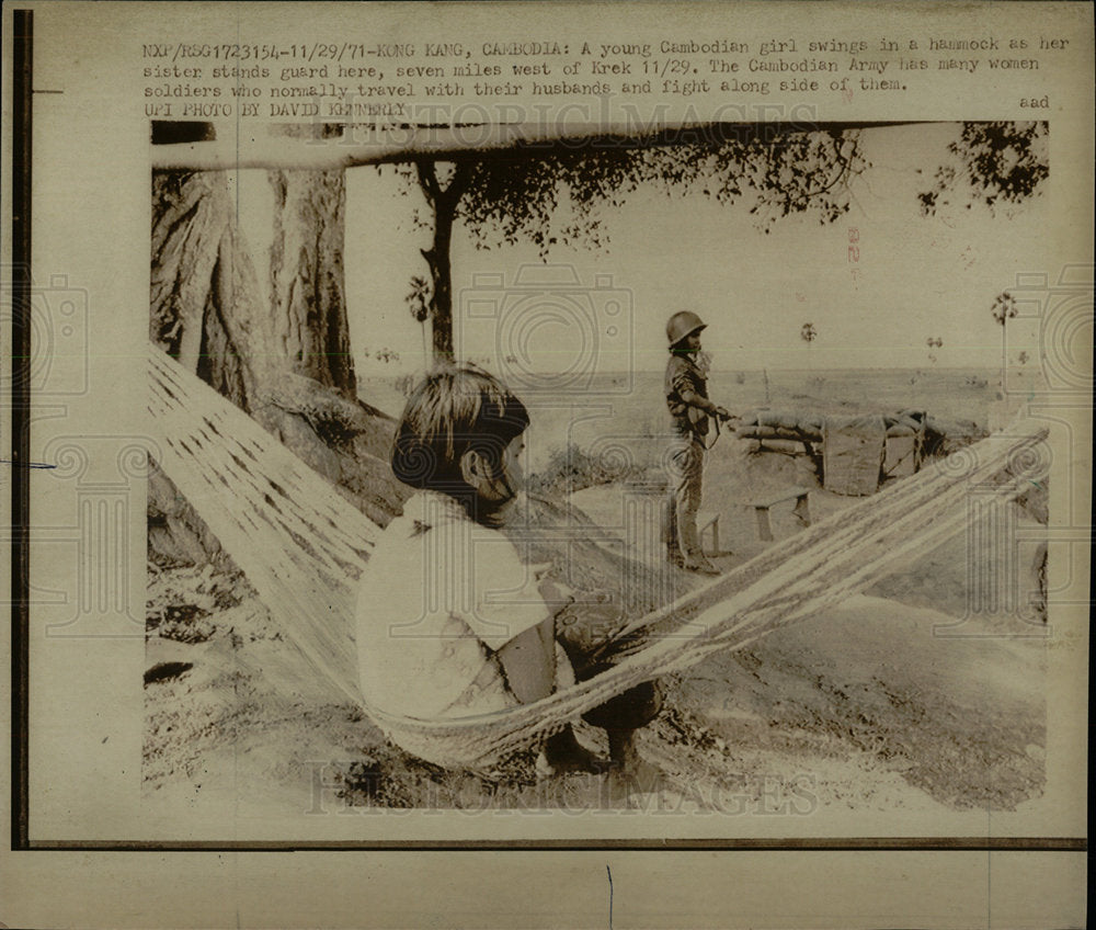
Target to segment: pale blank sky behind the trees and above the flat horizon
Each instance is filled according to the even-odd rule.
[[[457,354],[493,368],[511,354],[533,371],[655,371],[666,318],[690,309],[709,325],[705,349],[718,368],[997,366],[1002,331],[990,308],[1018,273],[1052,266],[1050,208],[1043,194],[1012,216],[979,205],[921,216],[916,195],[958,132],[959,124],[864,131],[871,167],[854,182],[849,213],[826,226],[791,216],[765,235],[744,205],[640,191],[602,212],[603,249],[557,246],[546,266],[532,245],[478,249],[457,224]],[[391,170],[346,175],[355,364],[365,376],[420,371],[424,333],[406,295],[412,275],[426,274],[419,250],[430,232],[413,213],[429,218],[429,207],[418,192],[401,194]],[[269,197],[259,179],[241,184],[254,186],[256,204]],[[246,235],[259,245],[269,220],[251,225]],[[817,331],[811,344],[800,338],[804,322]],[[1034,320],[1011,321],[1007,336],[1012,356],[1038,351]],[[929,338],[943,347],[931,349]],[[377,359],[384,349],[398,361]]]

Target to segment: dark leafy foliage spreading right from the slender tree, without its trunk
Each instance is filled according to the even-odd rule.
[[[867,167],[855,129],[549,151],[520,146],[457,167],[465,186],[456,212],[480,248],[528,240],[544,259],[557,243],[604,248],[602,211],[648,185],[670,196],[749,203],[764,232],[796,213],[830,223],[848,209],[848,183]]]

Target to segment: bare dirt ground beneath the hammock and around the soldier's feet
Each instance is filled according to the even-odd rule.
[[[802,458],[750,455],[735,443],[713,453],[705,508],[721,517],[729,552],[719,560],[760,551],[742,500],[812,480]],[[815,518],[847,506],[813,487]],[[614,526],[623,492],[603,486],[574,499]],[[1020,519],[1038,525],[1027,511]],[[773,524],[777,536],[798,528],[779,509]],[[302,673],[242,579],[158,570],[148,594],[146,791],[196,805],[247,795],[282,814],[308,810],[317,779],[341,803],[380,807],[635,807],[657,789],[660,804],[683,808],[1014,809],[1044,782],[1042,645],[984,635],[1038,632],[1030,616],[963,620],[964,545],[957,540],[837,610],[670,678],[666,708],[640,737],[657,772],[630,782],[538,781],[532,752],[498,782],[414,760]],[[604,751],[600,730],[579,734]]]

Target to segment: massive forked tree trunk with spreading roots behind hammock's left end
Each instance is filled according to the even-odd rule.
[[[386,461],[391,420],[355,394],[342,283],[344,182],[335,172],[273,173],[282,195],[271,309],[226,174],[153,173],[150,338],[384,525],[406,489]],[[221,557],[159,469],[149,528],[156,562]]]

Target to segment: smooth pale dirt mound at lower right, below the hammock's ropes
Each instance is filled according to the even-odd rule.
[[[858,597],[713,657],[672,700],[732,757],[767,750],[810,771],[866,756],[947,807],[1008,810],[1046,779],[1043,645],[972,637],[991,632]]]

